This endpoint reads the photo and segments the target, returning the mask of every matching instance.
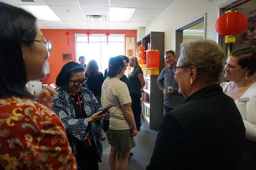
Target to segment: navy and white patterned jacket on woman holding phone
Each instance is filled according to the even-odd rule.
[[[100,120],[89,124],[90,128],[88,128],[89,118],[104,107],[99,105],[89,89],[82,87],[80,92],[82,94],[82,101],[87,118],[76,119],[75,109],[72,103],[73,101],[69,98],[68,93],[60,88],[56,90],[56,95],[53,98],[52,110],[60,117],[60,121],[66,129],[68,141],[76,159],[79,159],[76,152],[76,138],[80,141],[84,141],[90,133],[98,150],[97,161],[101,162],[103,154],[101,134],[99,133],[98,126],[107,132],[109,121],[101,118]]]

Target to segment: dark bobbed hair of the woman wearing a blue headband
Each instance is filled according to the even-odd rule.
[[[57,78],[56,78],[56,85],[58,87],[60,87],[62,90],[67,90],[69,91],[68,89],[68,82],[69,82],[69,79],[71,78],[71,75],[73,73],[76,73],[76,72],[80,72],[80,71],[83,71],[84,72],[84,69],[76,69],[76,70],[73,70],[71,72],[68,72],[69,69],[75,65],[79,65],[79,63],[76,63],[76,62],[69,62],[67,64],[65,64],[62,69],[60,70],[60,73],[58,74]]]

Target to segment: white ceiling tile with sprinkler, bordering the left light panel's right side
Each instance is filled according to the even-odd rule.
[[[63,21],[85,21],[78,6],[50,6]],[[69,12],[67,11],[69,10]]]

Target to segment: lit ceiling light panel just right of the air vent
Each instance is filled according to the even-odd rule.
[[[130,21],[136,8],[110,8],[108,21]]]

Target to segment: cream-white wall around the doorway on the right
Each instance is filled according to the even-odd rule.
[[[145,35],[150,31],[163,31],[164,51],[175,50],[175,28],[206,13],[206,39],[217,41],[218,6],[226,2],[228,0],[174,0],[145,27]]]

